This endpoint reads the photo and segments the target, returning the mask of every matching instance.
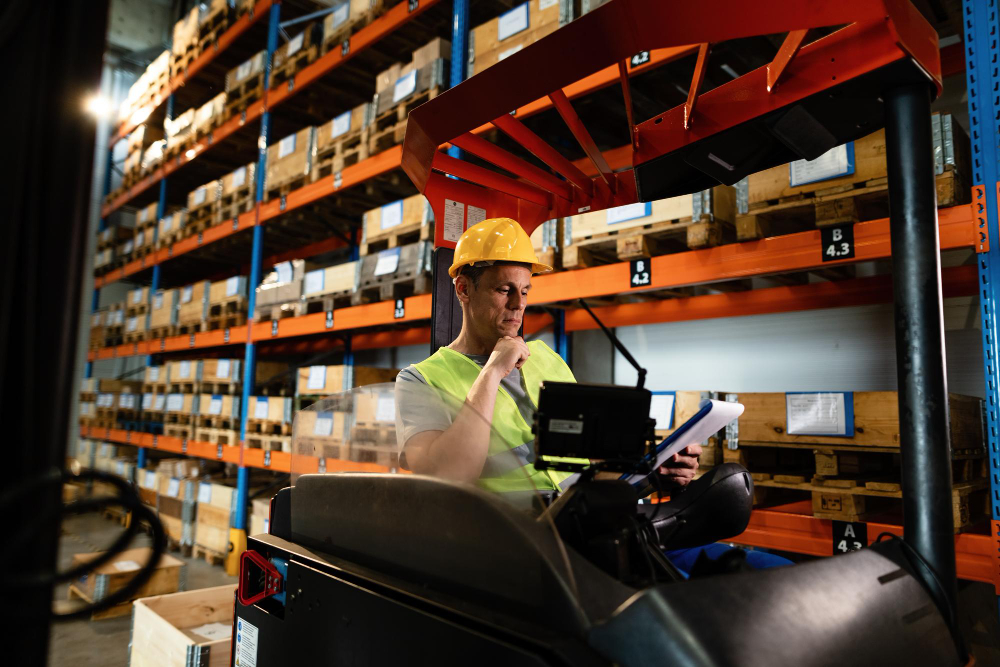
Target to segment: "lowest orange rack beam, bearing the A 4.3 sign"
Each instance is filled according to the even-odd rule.
[[[833,555],[833,524],[810,514],[810,501],[756,509],[750,516],[746,531],[731,542],[751,547],[776,549],[811,556]],[[869,523],[868,543],[882,533],[902,535],[903,528],[893,524]],[[997,584],[994,572],[996,545],[992,537],[980,533],[959,533],[955,536],[955,557],[960,579]]]

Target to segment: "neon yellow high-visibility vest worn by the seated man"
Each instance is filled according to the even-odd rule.
[[[538,407],[538,390],[543,380],[551,382],[576,382],[573,371],[552,348],[540,340],[528,343],[531,356],[521,366],[524,387],[527,390],[531,404]],[[430,357],[415,364],[415,368],[432,387],[454,397],[456,405],[469,395],[472,384],[479,377],[482,368],[461,352],[447,347],[438,349]],[[493,408],[493,433],[490,438],[491,455],[501,451],[501,448],[511,449],[530,442],[534,436],[531,425],[528,424],[517,407],[514,398],[503,388],[497,391],[497,400]],[[510,458],[510,457],[504,457]],[[556,471],[536,470],[533,465],[506,470],[499,474],[491,474],[488,467],[484,469],[479,485],[487,491],[525,491],[536,489],[558,489],[559,482],[566,479],[566,473]]]

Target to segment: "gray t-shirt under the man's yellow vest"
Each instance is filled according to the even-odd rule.
[[[489,360],[487,355],[467,354],[465,356],[476,362],[480,368]],[[514,399],[521,416],[530,426],[535,418],[535,406],[531,403],[531,398],[528,397],[521,371],[515,368],[500,381],[500,385]],[[465,396],[446,398],[426,387],[427,380],[412,365],[401,370],[396,376],[396,411],[398,415],[396,433],[400,449],[406,441],[417,433],[444,431],[451,426],[455,412],[465,400]],[[448,405],[449,402],[454,404]],[[534,449],[534,441],[525,444],[530,449]]]

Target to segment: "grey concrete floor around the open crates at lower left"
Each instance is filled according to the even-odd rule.
[[[70,517],[63,522],[59,541],[59,568],[69,569],[73,554],[101,551],[114,541],[121,526],[96,515]],[[146,535],[139,535],[135,547],[149,545]],[[187,590],[236,583],[236,577],[227,576],[218,566],[204,560],[183,558],[171,554],[188,564]],[[66,599],[68,584],[56,591],[57,599]],[[78,620],[52,626],[49,641],[49,665],[58,667],[124,667],[128,664],[129,630],[131,616],[109,618],[103,621]]]

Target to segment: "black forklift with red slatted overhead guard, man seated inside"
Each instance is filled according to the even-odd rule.
[[[823,36],[807,42],[816,29]],[[773,62],[699,92],[711,43],[783,32]],[[630,58],[691,43],[702,46],[687,102],[634,122]],[[564,92],[608,67],[619,70],[631,137],[631,164],[619,169]],[[573,396],[543,388],[539,457],[557,457],[557,468],[567,454],[594,461],[556,498],[504,497],[399,464],[320,472],[323,454],[297,432],[294,483],[272,500],[268,534],[250,537],[241,556],[231,664],[968,664],[956,627],[931,151],[940,92],[936,33],[908,0],[611,0],[414,109],[403,145],[403,169],[438,221],[433,350],[458,332],[447,267],[458,235],[482,217],[514,218],[530,234],[557,217],[732,185],[884,127],[904,539],[785,568],[684,576],[663,551],[742,532],[752,481],[725,464],[669,500],[640,504],[660,495],[655,474],[645,478],[653,488],[629,475],[650,468],[663,445],[651,437],[641,387],[581,385]],[[541,98],[590,158],[591,175],[519,119]],[[548,170],[474,133],[486,124]],[[461,404],[427,391],[441,409]],[[391,392],[333,400],[358,406]],[[554,437],[547,425],[567,401],[587,414],[620,410],[634,428]],[[333,405],[314,408],[318,418]]]

